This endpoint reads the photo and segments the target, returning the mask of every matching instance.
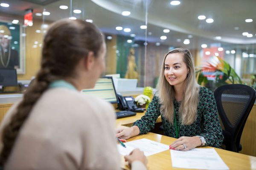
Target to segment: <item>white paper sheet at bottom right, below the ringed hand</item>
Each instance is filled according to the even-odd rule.
[[[188,151],[170,150],[172,167],[206,170],[229,170],[214,148]]]

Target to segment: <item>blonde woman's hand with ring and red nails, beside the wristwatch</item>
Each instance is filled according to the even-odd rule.
[[[198,136],[193,136],[193,137],[182,136],[170,145],[170,149],[187,151],[187,150],[194,149],[195,147],[199,147],[201,146],[201,144],[202,143]]]

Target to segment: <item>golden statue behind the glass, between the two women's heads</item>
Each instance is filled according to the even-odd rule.
[[[134,53],[135,53],[134,49],[131,48],[130,55],[128,56],[127,71],[125,74],[125,78],[130,78],[130,79],[138,79],[139,78]]]

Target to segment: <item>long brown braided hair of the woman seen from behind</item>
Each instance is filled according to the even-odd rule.
[[[48,85],[55,80],[76,76],[74,70],[78,62],[87,57],[88,52],[97,57],[103,43],[102,32],[92,23],[62,19],[52,24],[44,37],[41,69],[24,94],[17,112],[3,129],[0,165],[6,163],[20,128]]]

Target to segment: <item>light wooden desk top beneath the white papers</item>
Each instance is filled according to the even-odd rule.
[[[170,138],[168,136],[163,136],[155,133],[147,133],[145,135],[134,136],[127,141],[138,140],[141,138],[147,138],[152,141],[157,141],[163,144],[171,144],[176,139]],[[202,147],[202,148],[212,148],[212,147]],[[227,164],[230,170],[250,170],[256,169],[256,157],[247,156],[241,153],[234,153],[227,150],[221,150],[215,148],[222,160]],[[172,160],[170,150],[166,150],[161,153],[157,153],[148,156],[148,169],[149,170],[181,170],[180,168],[172,167]],[[129,169],[125,164],[124,158],[122,157],[122,168]]]

